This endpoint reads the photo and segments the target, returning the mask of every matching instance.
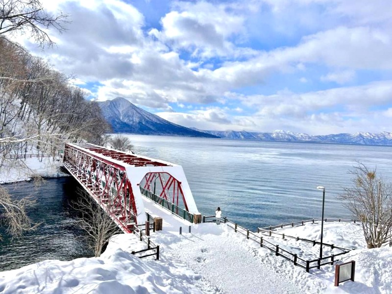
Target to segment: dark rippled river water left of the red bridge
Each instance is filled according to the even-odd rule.
[[[42,223],[23,239],[11,239],[4,228],[0,228],[3,238],[0,241],[0,271],[47,259],[72,260],[94,255],[80,238],[84,233],[76,223],[76,212],[71,205],[77,199],[77,185],[72,177],[63,177],[47,179],[39,187],[33,182],[3,186],[15,197],[34,196],[37,205],[29,211],[29,216],[33,222]]]

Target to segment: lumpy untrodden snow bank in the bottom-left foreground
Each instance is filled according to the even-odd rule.
[[[0,293],[201,293],[189,270],[141,260],[122,249],[99,258],[47,260],[0,273]]]

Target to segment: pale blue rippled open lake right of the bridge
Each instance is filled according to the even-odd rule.
[[[351,218],[336,199],[350,185],[356,161],[392,178],[392,147],[234,141],[128,135],[138,154],[183,167],[198,210],[258,226],[321,218]]]

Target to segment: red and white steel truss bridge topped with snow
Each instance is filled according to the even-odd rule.
[[[143,196],[188,220],[199,213],[181,166],[93,144],[66,144],[64,167],[126,233],[146,222]],[[194,215],[197,218],[194,218]]]

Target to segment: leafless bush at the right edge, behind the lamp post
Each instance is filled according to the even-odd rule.
[[[391,238],[392,186],[361,163],[349,173],[354,175],[352,186],[339,198],[362,221],[368,248],[380,247]]]

